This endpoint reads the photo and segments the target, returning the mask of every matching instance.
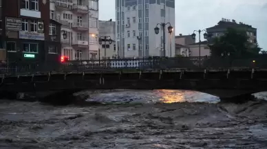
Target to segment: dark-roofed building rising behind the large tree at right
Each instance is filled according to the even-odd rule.
[[[211,34],[211,38],[224,35],[228,28],[234,28],[237,30],[245,30],[248,35],[248,41],[250,43],[257,43],[257,28],[252,27],[251,25],[246,25],[242,22],[237,23],[235,20],[222,19],[213,27],[206,28],[206,32]]]

